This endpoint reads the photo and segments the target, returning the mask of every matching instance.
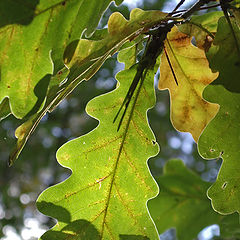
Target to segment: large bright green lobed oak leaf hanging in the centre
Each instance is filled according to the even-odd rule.
[[[41,239],[86,239],[82,236],[91,232],[94,240],[159,239],[146,205],[158,193],[147,167],[158,145],[146,115],[155,104],[156,70],[149,70],[137,88],[118,132],[113,119],[137,65],[117,74],[120,87],[88,103],[88,114],[100,124],[58,150],[58,162],[72,175],[37,200],[42,213],[58,220]],[[83,224],[75,224],[79,221]]]

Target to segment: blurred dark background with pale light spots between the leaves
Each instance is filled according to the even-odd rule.
[[[186,1],[190,4],[191,1]],[[132,8],[171,11],[174,0],[124,1],[116,7],[113,3],[102,17],[99,28],[107,26],[112,12],[119,11],[126,18]],[[185,7],[186,7],[185,4]],[[37,196],[47,187],[66,179],[69,169],[62,168],[55,158],[57,149],[67,141],[88,133],[98,125],[85,112],[87,102],[95,96],[115,88],[115,74],[124,68],[116,60],[109,58],[99,72],[88,82],[81,83],[51,114],[46,115],[33,136],[28,141],[13,167],[7,166],[9,152],[16,142],[14,131],[20,121],[9,116],[0,123],[0,239],[37,239],[55,221],[39,213],[35,206]],[[155,78],[155,85],[159,73]],[[160,153],[149,160],[153,175],[159,176],[165,162],[180,158],[202,179],[213,182],[221,161],[203,160],[197,153],[196,144],[188,133],[177,132],[171,125],[169,116],[169,94],[156,88],[157,104],[149,110],[150,125],[160,145]],[[218,232],[216,226],[211,231]],[[214,235],[214,233],[213,233]],[[199,235],[200,236],[200,235]],[[209,236],[201,239],[211,239]],[[162,239],[175,239],[174,230],[163,234]]]

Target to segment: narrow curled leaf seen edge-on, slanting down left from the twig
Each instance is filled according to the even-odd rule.
[[[81,39],[72,42],[65,51],[66,66],[54,76],[47,75],[44,79],[49,81],[50,78],[44,107],[17,129],[18,142],[10,156],[10,165],[18,157],[30,134],[47,111],[51,111],[81,81],[91,78],[104,61],[125,42],[160,22],[166,15],[160,11],[134,9],[130,14],[130,20],[127,21],[120,13],[114,13],[109,19],[107,33],[99,34],[93,37],[93,40]]]

